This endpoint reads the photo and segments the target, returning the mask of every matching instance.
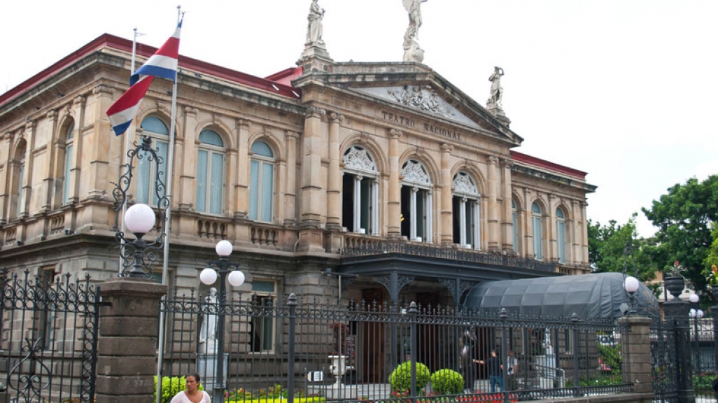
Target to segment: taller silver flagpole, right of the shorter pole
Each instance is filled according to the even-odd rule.
[[[182,6],[177,6],[177,24],[182,21]],[[177,114],[177,81],[180,80],[180,55],[177,55],[177,73],[174,75],[174,84],[172,85],[172,112],[169,121],[169,150],[167,152],[167,192],[168,198],[167,210],[165,210],[164,218],[164,256],[162,259],[162,284],[167,284],[167,276],[169,272],[169,226],[172,218],[172,176],[174,165],[174,126]],[[167,300],[167,294],[162,296],[162,302]],[[159,310],[159,351],[157,352],[157,391],[155,393],[155,403],[162,401],[162,361],[164,361],[164,310]]]

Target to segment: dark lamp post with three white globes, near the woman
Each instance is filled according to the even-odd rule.
[[[244,284],[244,274],[239,270],[238,265],[229,261],[228,256],[232,254],[232,244],[229,241],[219,241],[215,246],[215,251],[220,256],[219,260],[209,261],[208,267],[200,272],[200,281],[202,284],[215,284],[219,277],[220,292],[217,302],[217,351],[215,353],[215,381],[213,390],[213,403],[224,403],[224,391],[226,388],[224,373],[224,328],[225,328],[225,303],[226,303],[226,282],[233,287],[240,287]]]

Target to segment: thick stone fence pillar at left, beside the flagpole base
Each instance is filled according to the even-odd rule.
[[[121,277],[100,285],[97,403],[151,402],[159,300],[167,286]]]

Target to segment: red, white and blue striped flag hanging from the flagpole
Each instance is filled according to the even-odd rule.
[[[117,136],[129,128],[153,78],[167,78],[172,81],[177,78],[181,30],[182,21],[177,24],[172,37],[130,77],[130,88],[107,110],[112,130]]]

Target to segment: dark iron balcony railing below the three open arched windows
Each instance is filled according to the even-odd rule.
[[[363,239],[359,239],[363,238]],[[378,254],[406,254],[434,259],[448,259],[465,261],[475,264],[490,264],[493,266],[516,267],[518,269],[538,270],[541,272],[556,272],[555,263],[546,263],[535,259],[525,259],[517,256],[493,254],[474,249],[460,249],[447,246],[409,242],[403,239],[380,239],[366,236],[347,236],[343,256],[371,256]]]

